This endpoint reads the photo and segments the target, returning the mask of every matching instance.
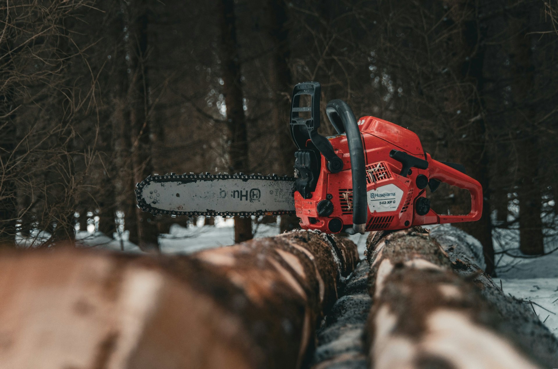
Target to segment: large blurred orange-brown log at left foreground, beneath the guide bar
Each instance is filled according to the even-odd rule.
[[[310,231],[189,256],[6,252],[0,367],[301,367],[357,262]]]

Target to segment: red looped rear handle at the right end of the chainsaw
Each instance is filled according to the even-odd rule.
[[[426,158],[429,162],[430,179],[437,179],[448,185],[463,188],[471,195],[471,211],[467,215],[439,215],[440,224],[479,220],[483,212],[483,188],[480,183],[467,174],[432,159],[428,153]]]

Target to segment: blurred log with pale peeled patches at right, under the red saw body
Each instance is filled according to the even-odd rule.
[[[547,351],[541,357],[540,352],[529,349],[536,344],[552,346],[556,340],[550,332],[546,337],[549,346],[522,343],[533,337],[519,336],[509,329],[489,300],[491,294],[502,292],[493,283],[475,283],[480,275],[492,282],[489,276],[478,266],[468,277],[454,273],[465,268],[465,255],[471,253],[452,262],[442,246],[420,227],[371,234],[367,249],[373,305],[365,347],[371,367],[557,367],[557,351]],[[492,292],[483,293],[487,288]]]

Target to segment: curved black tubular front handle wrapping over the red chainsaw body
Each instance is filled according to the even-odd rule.
[[[347,133],[349,144],[350,167],[353,177],[353,229],[345,230],[349,234],[364,234],[368,218],[368,203],[366,201],[366,169],[364,148],[360,139],[357,119],[353,110],[343,100],[329,101],[325,108],[329,121],[339,133]]]

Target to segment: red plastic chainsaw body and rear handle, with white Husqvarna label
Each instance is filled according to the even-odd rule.
[[[368,217],[366,231],[396,230],[411,226],[451,222],[475,221],[482,212],[482,187],[475,179],[425,154],[419,137],[400,125],[373,116],[358,120],[362,136],[367,176]],[[304,229],[338,233],[352,225],[352,177],[347,137],[345,134],[328,137],[335,154],[343,160],[339,173],[328,171],[324,156],[318,183],[310,198],[303,198],[295,191],[296,215]],[[402,164],[389,156],[391,150],[401,150],[426,160],[427,169],[412,168],[407,176],[400,175]],[[439,215],[429,210],[425,215],[415,211],[416,201],[426,197],[426,188],[417,186],[422,174],[450,185],[464,188],[471,193],[471,211],[467,215]],[[319,216],[318,203],[325,199],[333,203],[329,216]],[[339,222],[342,227],[339,227]]]

